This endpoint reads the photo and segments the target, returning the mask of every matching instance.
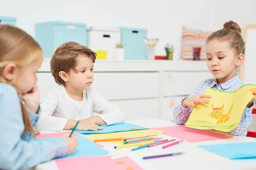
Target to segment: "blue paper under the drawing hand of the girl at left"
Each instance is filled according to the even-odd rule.
[[[83,157],[83,156],[99,156],[108,154],[107,150],[102,149],[97,146],[95,143],[90,140],[84,138],[83,136],[76,136],[79,145],[76,147],[75,152],[72,155],[63,156],[60,158],[75,158],[75,157]],[[59,138],[41,138],[35,139],[36,141],[53,141]]]

